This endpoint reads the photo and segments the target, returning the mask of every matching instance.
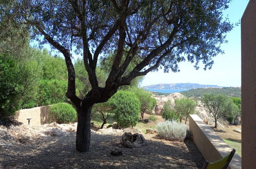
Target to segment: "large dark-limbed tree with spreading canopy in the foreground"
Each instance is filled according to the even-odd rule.
[[[163,68],[179,71],[188,60],[198,69],[211,68],[212,58],[232,29],[223,19],[231,0],[12,0],[9,13],[29,25],[31,37],[60,51],[68,71],[66,96],[77,111],[76,150],[90,149],[90,114],[93,104],[107,101],[132,79]],[[128,50],[125,50],[128,49]],[[116,51],[104,87],[96,67],[100,57]],[[81,99],[75,93],[72,54],[82,55],[91,90]],[[122,58],[124,61],[122,62]],[[134,58],[140,61],[128,73]],[[124,74],[125,73],[125,74]]]

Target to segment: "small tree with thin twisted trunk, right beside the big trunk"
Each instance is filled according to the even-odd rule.
[[[103,121],[101,125],[101,129],[103,129],[104,124],[107,124],[107,119],[110,115],[111,111],[111,105],[109,102],[104,102],[104,103],[97,103],[93,105],[93,110],[92,112],[99,112],[101,114],[101,119]]]

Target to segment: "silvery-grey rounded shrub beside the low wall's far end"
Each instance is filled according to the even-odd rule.
[[[157,133],[167,140],[184,141],[187,133],[186,124],[176,121],[165,121],[156,125]]]

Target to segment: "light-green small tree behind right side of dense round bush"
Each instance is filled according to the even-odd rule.
[[[137,98],[139,98],[141,103],[141,117],[143,119],[145,112],[152,112],[153,108],[156,105],[156,100],[155,98],[151,97],[152,94],[150,92],[147,92],[144,89],[130,88],[129,91],[135,93]]]

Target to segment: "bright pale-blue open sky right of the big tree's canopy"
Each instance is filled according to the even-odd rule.
[[[224,12],[224,17],[228,16],[233,24],[240,22],[248,2],[249,0],[233,0]],[[234,27],[227,34],[226,39],[228,43],[221,46],[225,54],[213,58],[214,64],[210,70],[205,71],[203,65],[199,70],[195,70],[190,62],[181,62],[180,72],[164,73],[162,70],[150,72],[145,76],[141,86],[189,82],[222,87],[241,87],[241,24]]]

